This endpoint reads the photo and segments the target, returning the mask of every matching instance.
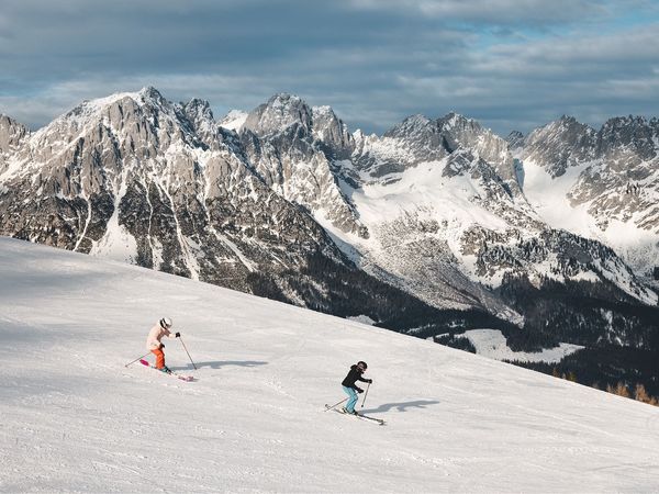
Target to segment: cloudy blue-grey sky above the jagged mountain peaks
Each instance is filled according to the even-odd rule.
[[[455,111],[501,135],[659,116],[659,0],[0,0],[0,113],[37,128],[157,88],[215,117],[277,92],[350,131]]]

